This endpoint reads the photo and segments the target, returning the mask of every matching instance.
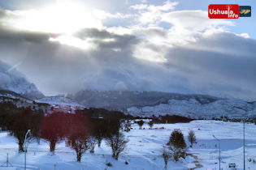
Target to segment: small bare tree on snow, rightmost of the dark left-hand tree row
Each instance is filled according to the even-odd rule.
[[[115,159],[119,158],[119,154],[124,151],[128,139],[124,137],[124,134],[117,133],[111,134],[106,138],[106,145],[112,149],[112,157]]]

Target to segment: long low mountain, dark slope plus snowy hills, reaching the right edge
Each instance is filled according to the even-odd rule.
[[[256,102],[158,91],[79,91],[76,102],[91,108],[117,109],[133,116],[180,115],[192,118],[256,116]]]

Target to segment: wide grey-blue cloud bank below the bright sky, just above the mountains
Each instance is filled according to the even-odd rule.
[[[161,30],[158,34],[165,35]],[[0,59],[13,65],[22,62],[18,70],[46,95],[83,88],[221,93],[241,98],[256,94],[256,42],[252,39],[228,32],[197,36],[196,42],[168,49],[167,62],[162,64],[132,56],[134,48],[144,42],[137,36],[98,29],[84,29],[76,36],[91,39],[98,49],[76,49],[49,41],[46,33],[1,28]],[[145,44],[161,53],[160,47]]]

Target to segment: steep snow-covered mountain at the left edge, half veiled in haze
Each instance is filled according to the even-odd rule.
[[[29,83],[24,74],[18,70],[10,70],[11,66],[0,61],[0,89],[14,91],[29,99],[44,97],[33,83]]]

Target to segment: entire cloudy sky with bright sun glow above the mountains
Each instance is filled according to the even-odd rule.
[[[0,60],[51,96],[80,89],[256,100],[252,17],[208,19],[207,0],[1,0]],[[216,0],[215,3],[230,3]]]

